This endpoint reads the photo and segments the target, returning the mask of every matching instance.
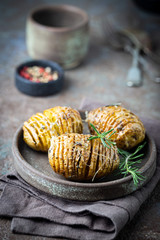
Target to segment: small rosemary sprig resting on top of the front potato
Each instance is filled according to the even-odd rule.
[[[95,128],[95,126],[90,123],[91,127],[94,129],[94,131],[97,133],[96,136],[91,136],[88,138],[88,140],[92,140],[92,139],[96,139],[96,138],[100,138],[101,139],[101,142],[103,143],[104,147],[107,147],[107,148],[111,148],[112,145],[116,145],[115,142],[113,142],[110,138],[111,136],[115,133],[112,132],[114,129],[110,129],[109,131],[107,132],[104,132],[104,133],[99,133],[99,131]],[[112,133],[111,133],[112,132]],[[106,135],[108,135],[109,133],[111,133],[108,137],[106,137]]]

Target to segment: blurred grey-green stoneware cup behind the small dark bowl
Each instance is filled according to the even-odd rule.
[[[74,68],[88,51],[88,15],[70,5],[34,9],[27,19],[26,43],[32,58],[53,60],[64,69]]]

